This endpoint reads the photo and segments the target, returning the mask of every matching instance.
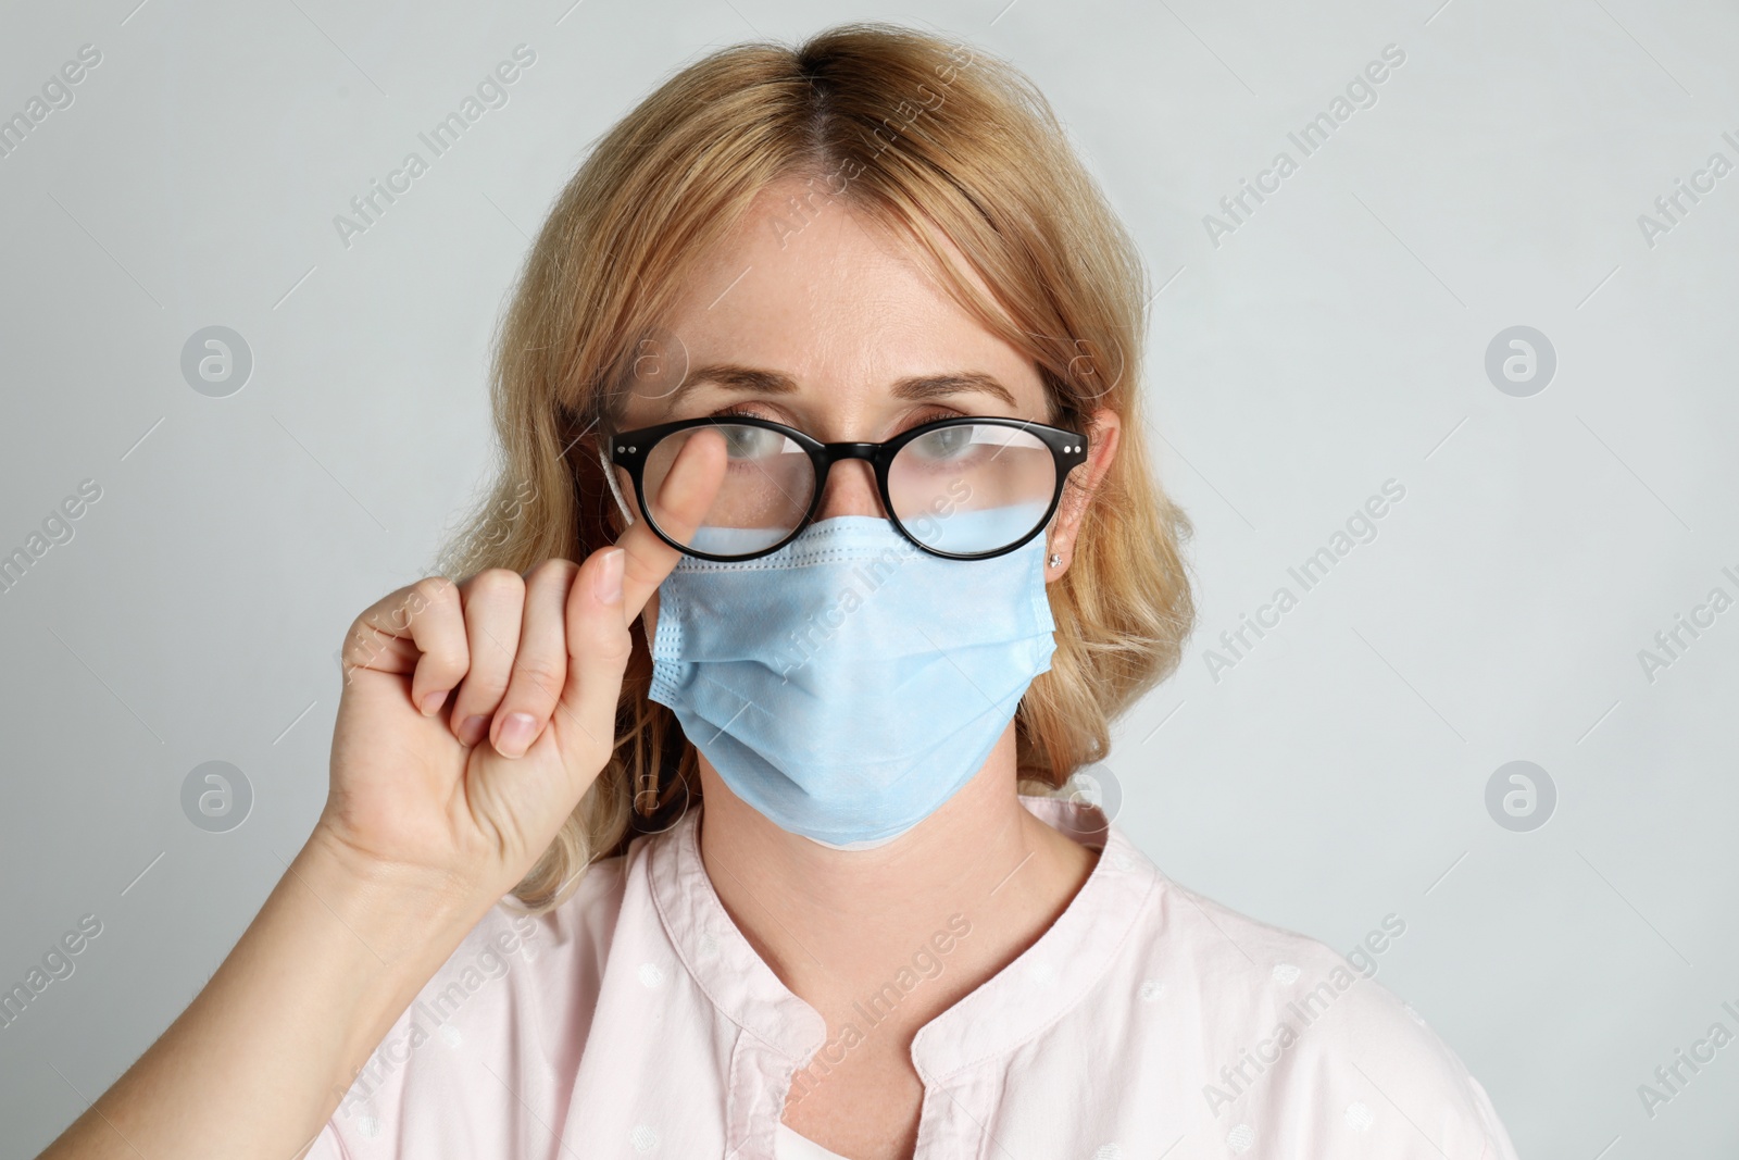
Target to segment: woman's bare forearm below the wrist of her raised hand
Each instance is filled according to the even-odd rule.
[[[217,974],[42,1160],[289,1160],[492,899],[367,866],[322,831]]]

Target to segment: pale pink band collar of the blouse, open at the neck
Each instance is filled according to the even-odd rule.
[[[1160,883],[1158,868],[1097,805],[1035,795],[1021,795],[1021,805],[1101,856],[1038,941],[918,1030],[911,1059],[925,1083],[1012,1052],[1080,1003]],[[730,920],[701,861],[699,810],[650,842],[649,875],[664,932],[701,991],[795,1066],[807,1063],[826,1040],[826,1021]]]

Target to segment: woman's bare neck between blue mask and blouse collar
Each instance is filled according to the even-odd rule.
[[[863,1024],[863,1005],[882,1012],[873,1000],[885,993],[899,997],[887,1014],[909,1038],[1031,946],[1092,870],[1092,850],[1021,805],[1014,757],[1010,722],[965,788],[873,850],[779,830],[703,757],[708,877],[756,953],[830,1028]]]

